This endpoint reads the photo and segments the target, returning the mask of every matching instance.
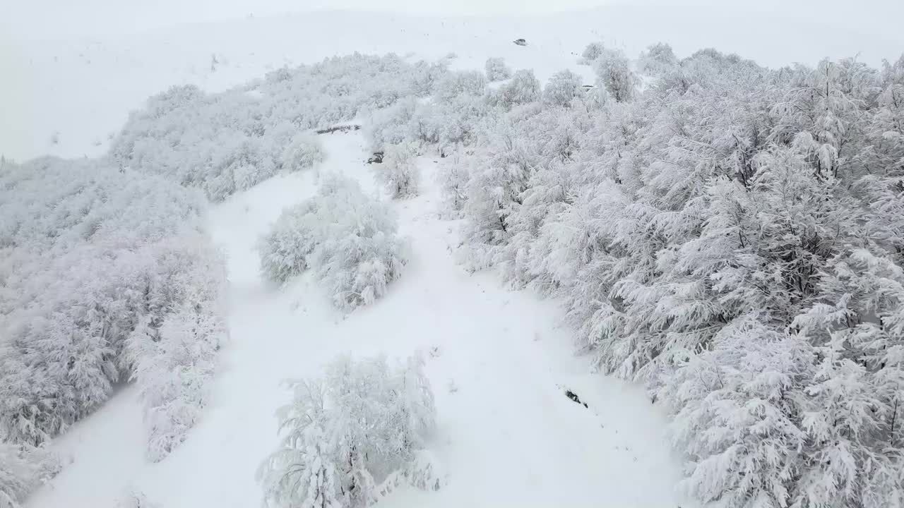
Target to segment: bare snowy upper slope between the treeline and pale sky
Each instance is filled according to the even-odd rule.
[[[717,47],[770,66],[854,55],[876,65],[882,58],[897,58],[904,48],[904,33],[890,21],[899,19],[890,13],[902,7],[892,0],[886,4],[874,11],[883,14],[878,17],[865,7],[860,16],[845,18],[834,10],[815,16],[796,9],[795,15],[787,5],[780,12],[758,5],[610,5],[504,17],[256,16],[61,40],[0,34],[0,154],[18,160],[47,153],[101,155],[128,111],[174,84],[225,89],[284,65],[356,51],[430,60],[455,52],[455,67],[466,69],[482,69],[488,56],[502,56],[516,69],[533,69],[542,81],[555,71],[577,68],[577,55],[598,40],[630,56],[651,43],[669,42],[679,56]],[[828,14],[834,21],[823,20]],[[519,37],[529,45],[515,46],[512,41]],[[212,67],[214,54],[219,63]],[[585,75],[589,71],[578,69]]]

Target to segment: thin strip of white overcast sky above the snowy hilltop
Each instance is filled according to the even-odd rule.
[[[0,0],[0,39],[127,34],[160,26],[316,10],[414,14],[542,14],[603,5],[709,5],[720,13],[774,12],[808,22],[896,30],[904,0]],[[861,26],[861,28],[863,28]],[[768,27],[764,27],[767,32]],[[766,33],[764,33],[766,35]]]

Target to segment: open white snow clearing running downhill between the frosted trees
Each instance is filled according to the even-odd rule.
[[[379,192],[360,131],[321,137],[319,172]],[[255,471],[277,444],[274,412],[289,399],[280,381],[315,376],[338,353],[404,357],[416,349],[428,358],[438,408],[428,446],[447,484],[400,488],[378,505],[687,506],[674,493],[680,475],[664,416],[643,391],[591,373],[557,325],[554,302],[457,266],[457,223],[437,213],[440,164],[421,157],[423,193],[393,202],[411,242],[406,271],[387,296],[346,317],[309,274],[286,287],[265,281],[253,248],[284,206],[314,193],[316,170],[278,176],[214,207],[214,239],[228,257],[231,338],[212,405],[184,444],[152,464],[136,391],[124,390],[54,443],[72,462],[27,506],[112,508],[133,490],[165,508],[259,505]]]

